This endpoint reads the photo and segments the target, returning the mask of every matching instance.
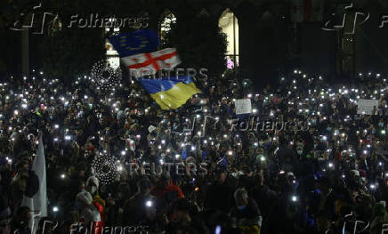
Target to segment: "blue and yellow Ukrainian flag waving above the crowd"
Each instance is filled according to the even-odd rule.
[[[190,77],[138,79],[161,109],[177,109],[201,91]]]

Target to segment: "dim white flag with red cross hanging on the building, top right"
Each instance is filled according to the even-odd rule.
[[[291,21],[322,21],[325,8],[324,4],[324,0],[292,0]]]

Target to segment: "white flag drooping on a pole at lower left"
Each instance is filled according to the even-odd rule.
[[[21,206],[28,206],[31,210],[32,214],[29,222],[29,228],[33,231],[32,233],[35,233],[40,218],[47,216],[47,190],[42,136],[39,137],[39,145],[37,147],[36,157],[32,163],[31,171],[37,176],[37,192],[33,194],[31,198],[26,196],[25,193]],[[28,186],[31,186],[31,184],[28,184]]]

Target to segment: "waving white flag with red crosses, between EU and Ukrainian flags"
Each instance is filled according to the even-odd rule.
[[[181,63],[175,48],[121,58],[133,77],[154,75],[160,69],[174,69]]]

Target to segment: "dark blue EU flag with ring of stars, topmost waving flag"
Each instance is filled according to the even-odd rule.
[[[137,53],[154,52],[159,46],[158,35],[150,29],[110,36],[109,42],[117,50],[120,58]]]

